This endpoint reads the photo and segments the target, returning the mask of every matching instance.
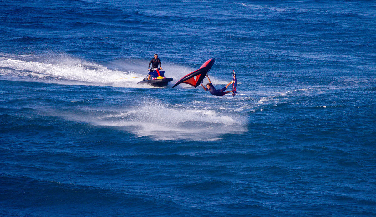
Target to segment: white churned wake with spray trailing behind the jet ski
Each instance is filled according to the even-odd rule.
[[[56,62],[56,60],[54,60]],[[128,64],[129,62],[135,64]],[[139,66],[141,61],[126,60],[116,61],[113,66],[119,66],[129,69],[127,71],[111,70],[99,64],[70,58],[63,59],[62,63],[40,63],[35,61],[23,61],[0,58],[0,67],[3,69],[1,75],[8,75],[9,78],[22,79],[24,76],[31,76],[34,81],[53,82],[59,84],[79,84],[79,85],[106,85],[112,87],[140,87],[136,83],[147,75],[147,71],[142,72]],[[138,63],[138,64],[136,64]],[[190,69],[181,66],[169,65],[165,67],[167,74],[177,80],[177,76],[183,76],[190,72]],[[136,71],[136,72],[135,72]],[[21,77],[21,78],[20,78]],[[223,83],[215,79],[217,83]],[[74,83],[76,82],[76,83]],[[144,87],[152,88],[150,85]],[[183,85],[183,87],[187,87]]]

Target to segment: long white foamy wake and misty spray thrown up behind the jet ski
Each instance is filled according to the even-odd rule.
[[[77,85],[103,85],[126,88],[153,88],[151,85],[138,85],[147,75],[148,61],[138,59],[115,60],[109,63],[108,68],[100,64],[83,61],[66,55],[59,55],[56,58],[42,62],[41,58],[32,55],[4,55],[0,54],[0,76],[7,79],[21,79],[23,81],[40,81],[58,84]],[[29,61],[26,59],[32,59]],[[36,59],[36,60],[35,60]],[[195,69],[180,66],[178,64],[164,64],[163,70],[167,77],[172,77],[173,82]],[[211,76],[215,84],[226,82]],[[182,84],[177,88],[191,88],[190,85]]]

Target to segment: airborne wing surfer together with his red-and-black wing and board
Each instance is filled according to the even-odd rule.
[[[176,87],[177,85],[181,83],[192,85],[194,88],[201,85],[204,88],[204,90],[208,90],[211,94],[215,96],[223,96],[227,93],[232,93],[232,96],[235,96],[235,94],[237,93],[236,91],[237,80],[236,80],[235,70],[233,70],[233,73],[232,73],[233,80],[230,83],[228,83],[226,87],[217,90],[213,86],[208,76],[209,70],[213,66],[214,62],[215,62],[215,58],[209,59],[204,64],[202,64],[200,69],[197,69],[196,71],[189,73],[188,75],[184,76],[179,81],[177,81],[176,84],[172,88]],[[206,88],[202,84],[203,79],[205,77],[207,77],[209,81],[209,83],[206,84]],[[225,91],[231,84],[232,84],[232,91]]]

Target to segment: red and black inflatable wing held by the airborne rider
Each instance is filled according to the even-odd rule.
[[[196,71],[189,73],[188,75],[184,76],[182,79],[177,81],[176,84],[174,84],[172,88],[176,87],[177,85],[181,83],[190,84],[196,88],[197,86],[201,84],[206,74],[208,74],[214,62],[215,62],[215,58],[209,59],[204,64],[202,64],[200,69],[197,69]]]

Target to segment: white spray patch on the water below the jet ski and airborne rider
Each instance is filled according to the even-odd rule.
[[[112,126],[135,136],[148,136],[156,140],[218,140],[220,135],[226,133],[244,132],[247,123],[244,115],[234,112],[218,113],[210,108],[199,106],[187,108],[185,105],[169,105],[147,98],[134,103],[133,106],[122,105],[121,108],[111,108],[110,105],[105,108],[98,105],[92,108],[89,100],[72,101],[71,104],[86,106],[83,109],[69,109],[69,111],[47,108],[43,113],[97,126]],[[155,113],[158,116],[154,116]]]

